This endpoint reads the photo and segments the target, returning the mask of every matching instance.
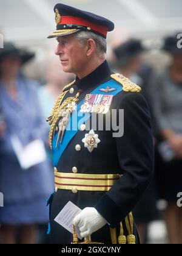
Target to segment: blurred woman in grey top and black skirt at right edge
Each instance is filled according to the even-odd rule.
[[[177,194],[182,191],[182,49],[178,48],[177,35],[167,37],[163,49],[172,62],[158,77],[154,102],[163,141],[158,145],[162,157],[158,187],[167,201],[169,243],[182,243],[182,209],[177,206]]]

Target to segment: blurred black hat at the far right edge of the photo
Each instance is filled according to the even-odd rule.
[[[180,36],[181,35],[181,36]],[[163,50],[171,54],[182,54],[182,32],[164,38]]]

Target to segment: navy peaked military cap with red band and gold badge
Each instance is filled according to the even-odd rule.
[[[89,30],[106,38],[107,32],[114,29],[112,21],[66,4],[56,4],[54,12],[56,31],[48,38],[70,35],[80,30]]]

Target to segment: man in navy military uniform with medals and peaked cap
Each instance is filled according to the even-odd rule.
[[[55,193],[48,202],[50,242],[73,240],[54,221],[71,201],[82,210],[73,224],[85,243],[90,235],[99,243],[139,243],[131,211],[152,176],[149,108],[141,88],[113,74],[107,65],[106,37],[114,24],[64,4],[57,4],[54,11],[57,27],[49,38],[57,38],[56,55],[64,71],[76,74],[76,79],[64,88],[48,118],[55,166]],[[115,118],[109,115],[112,110]],[[113,126],[89,127],[94,115],[104,121],[110,116],[119,128],[124,126],[124,134],[113,133]]]

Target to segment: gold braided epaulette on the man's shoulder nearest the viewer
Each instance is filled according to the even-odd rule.
[[[128,78],[122,74],[112,74],[112,79],[116,80],[119,84],[123,85],[123,91],[140,93],[141,87],[130,81]]]

